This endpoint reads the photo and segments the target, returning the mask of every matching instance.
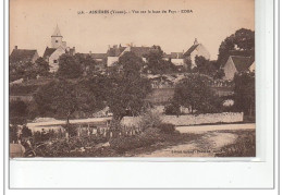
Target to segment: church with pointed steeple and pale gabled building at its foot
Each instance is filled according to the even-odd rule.
[[[75,47],[66,47],[66,42],[63,41],[63,36],[57,25],[54,33],[51,35],[51,48],[47,47],[44,53],[44,59],[50,65],[50,72],[58,71],[59,58],[64,53],[75,54]]]

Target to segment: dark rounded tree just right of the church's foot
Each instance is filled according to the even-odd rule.
[[[83,75],[83,69],[79,61],[71,54],[62,54],[59,58],[58,77],[78,78]]]

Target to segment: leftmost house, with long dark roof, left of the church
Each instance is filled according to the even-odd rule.
[[[17,46],[11,52],[9,60],[10,63],[26,63],[35,61],[39,58],[37,50],[33,49],[17,49]]]

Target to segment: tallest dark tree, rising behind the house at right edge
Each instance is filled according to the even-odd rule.
[[[226,37],[219,47],[217,64],[219,68],[224,65],[231,50],[238,50],[250,53],[255,49],[255,32],[241,28],[235,34]]]

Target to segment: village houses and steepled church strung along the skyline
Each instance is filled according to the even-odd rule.
[[[113,66],[116,64],[119,59],[127,51],[134,52],[137,57],[140,57],[146,61],[145,56],[153,50],[153,47],[136,47],[133,44],[124,47],[121,45],[109,46],[106,53],[83,53],[85,56],[90,56],[96,60],[100,66]],[[63,53],[75,54],[75,47],[67,47],[66,41],[63,41],[63,36],[61,32],[56,26],[54,33],[51,35],[51,47],[45,49],[42,58],[49,63],[50,72],[57,72],[59,69],[59,58]],[[171,52],[163,53],[163,60],[171,61],[174,65],[179,68],[185,68],[186,60],[190,60],[192,66],[196,66],[195,57],[204,57],[205,59],[210,59],[210,53],[206,47],[195,39],[192,47],[189,47],[185,52]],[[37,50],[19,49],[17,46],[13,49],[10,54],[10,61],[13,62],[35,62],[39,58]],[[225,76],[223,80],[233,80],[235,73],[245,71],[255,71],[255,54],[250,56],[242,54],[241,51],[231,51],[231,54],[226,59],[226,63],[221,68],[223,69]]]

